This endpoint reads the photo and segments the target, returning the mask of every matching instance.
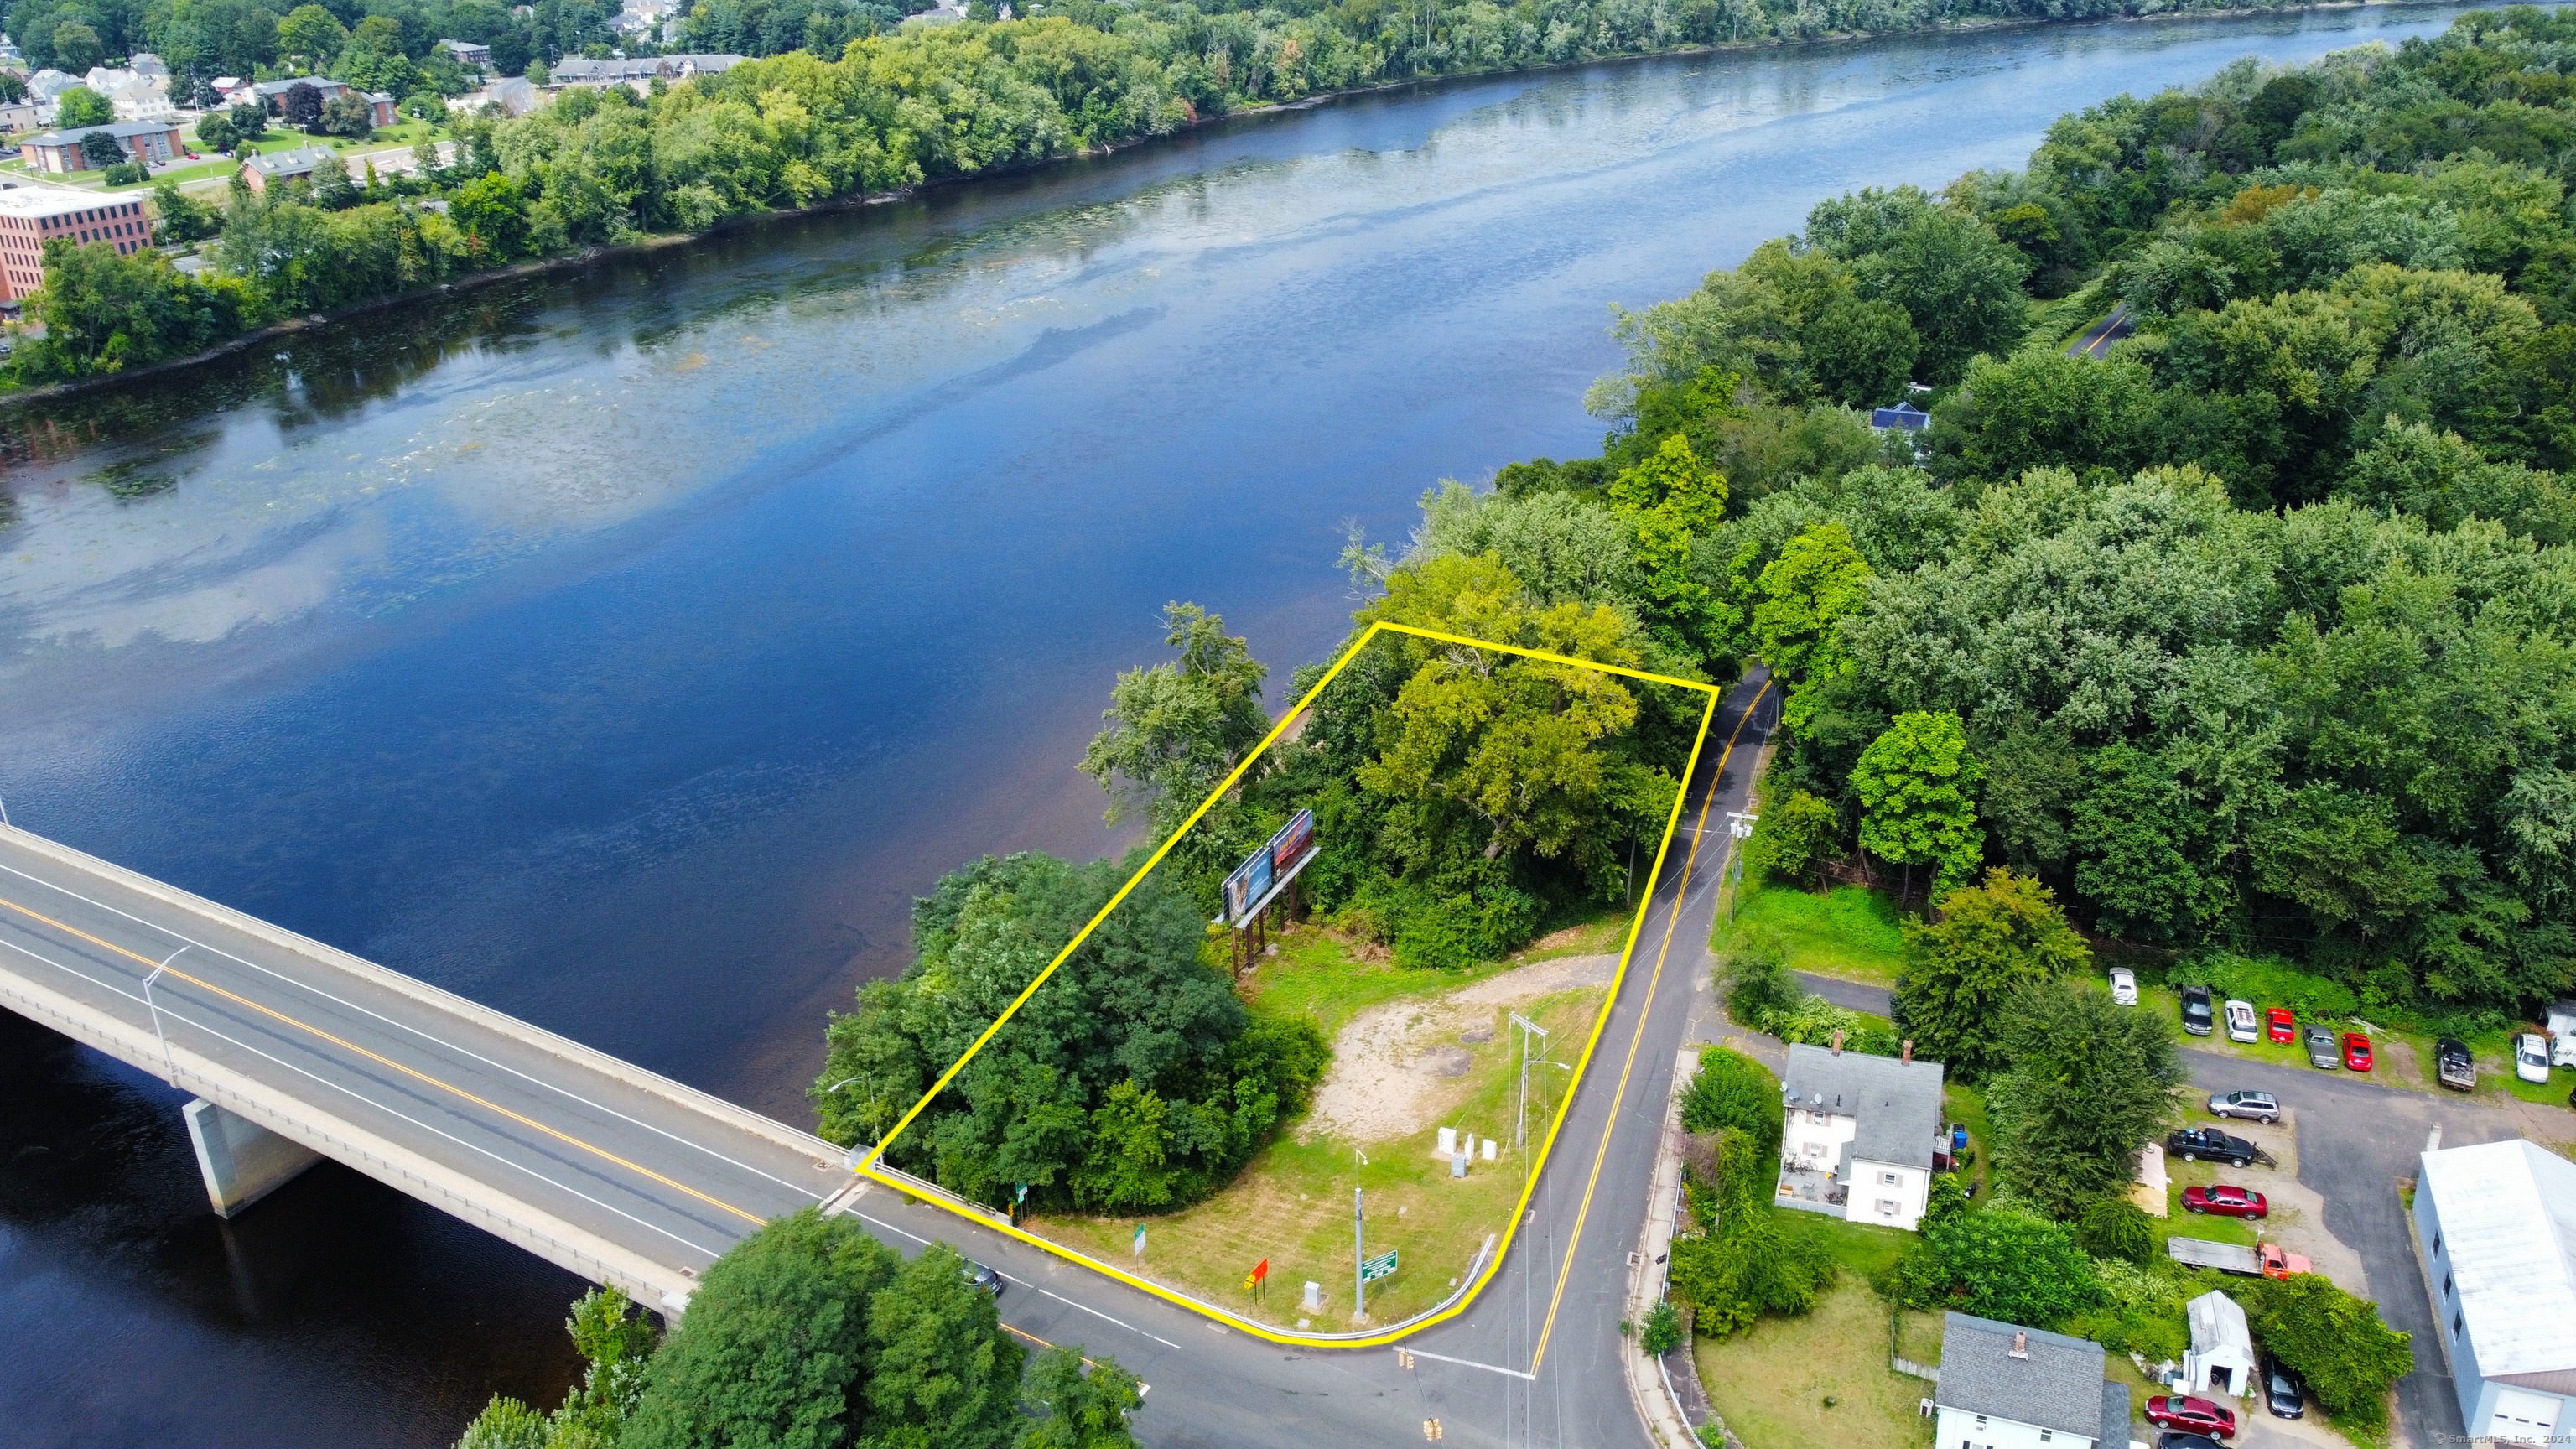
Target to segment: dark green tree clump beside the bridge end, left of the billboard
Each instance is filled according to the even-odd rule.
[[[835,1016],[822,1132],[876,1142],[1126,879],[981,859],[912,910],[920,957]],[[1255,1018],[1200,959],[1206,910],[1151,871],[889,1150],[976,1201],[1136,1212],[1206,1196],[1303,1106],[1311,1024]],[[855,1080],[850,1080],[855,1078]],[[837,1085],[835,1091],[824,1091]]]

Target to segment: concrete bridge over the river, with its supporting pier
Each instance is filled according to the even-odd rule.
[[[227,1217],[335,1158],[672,1318],[858,1189],[822,1137],[5,825],[0,1006],[193,1091]]]

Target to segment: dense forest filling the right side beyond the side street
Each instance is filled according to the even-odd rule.
[[[2576,982],[2571,44],[2509,10],[2246,62],[2066,116],[2022,173],[1819,204],[1623,317],[1602,456],[1443,487],[1404,567],[1489,552],[1710,678],[1765,660],[1783,882],[1929,905],[2004,866],[2143,959],[2463,1026],[2548,1000]],[[2133,335],[2069,348],[2115,307]],[[1906,384],[1929,428],[1870,433],[1855,407]],[[1659,578],[1623,490],[1680,456],[1723,516]]]

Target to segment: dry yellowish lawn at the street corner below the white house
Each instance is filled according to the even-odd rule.
[[[1692,1351],[1700,1385],[1744,1449],[1932,1444],[1932,1421],[1914,1408],[1932,1385],[1888,1369],[1888,1305],[1855,1276],[1819,1294],[1814,1312],[1762,1318],[1734,1338],[1700,1338]]]

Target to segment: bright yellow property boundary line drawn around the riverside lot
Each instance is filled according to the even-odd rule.
[[[1121,1271],[1121,1269],[1115,1269],[1110,1263],[1103,1263],[1100,1258],[1092,1258],[1087,1253],[1077,1253],[1074,1248],[1066,1248],[1061,1243],[1051,1243],[1046,1238],[1038,1238],[1036,1232],[1023,1232],[1020,1227],[1015,1227],[1010,1222],[1002,1222],[994,1214],[974,1212],[974,1209],[963,1207],[961,1201],[948,1201],[945,1194],[940,1194],[940,1196],[922,1196],[920,1194],[920,1183],[907,1181],[904,1176],[889,1176],[886,1171],[881,1171],[876,1163],[878,1163],[878,1158],[884,1158],[886,1145],[891,1145],[896,1137],[902,1137],[902,1132],[907,1127],[912,1127],[912,1119],[917,1119],[943,1091],[948,1091],[948,1083],[956,1080],[956,1075],[961,1070],[966,1070],[966,1062],[971,1062],[974,1055],[981,1052],[984,1044],[992,1042],[994,1034],[999,1034],[1002,1026],[1007,1026],[1010,1018],[1018,1016],[1018,1011],[1023,1006],[1028,1006],[1028,998],[1038,995],[1038,987],[1043,987],[1048,982],[1048,977],[1056,975],[1056,967],[1061,967],[1082,946],[1082,941],[1087,941],[1090,933],[1097,931],[1100,923],[1108,920],[1113,910],[1118,910],[1118,902],[1123,902],[1128,897],[1128,892],[1136,890],[1136,884],[1144,882],[1144,877],[1154,866],[1159,866],[1164,856],[1172,853],[1172,846],[1177,846],[1180,838],[1188,835],[1190,828],[1195,828],[1198,820],[1203,815],[1208,815],[1208,810],[1213,810],[1216,802],[1224,799],[1226,792],[1231,792],[1244,779],[1244,771],[1252,768],[1252,761],[1262,758],[1270,750],[1270,745],[1275,745],[1280,740],[1280,735],[1288,732],[1288,724],[1296,722],[1296,717],[1303,714],[1309,706],[1314,706],[1316,696],[1324,694],[1324,686],[1329,686],[1342,673],[1342,668],[1350,665],[1350,660],[1360,657],[1360,650],[1365,650],[1378,634],[1414,634],[1417,639],[1435,639],[1435,642],[1443,642],[1443,645],[1463,645],[1463,647],[1471,647],[1471,650],[1497,650],[1497,652],[1504,652],[1504,655],[1520,655],[1525,660],[1543,660],[1543,663],[1553,663],[1553,665],[1571,665],[1571,668],[1584,668],[1584,670],[1600,670],[1600,673],[1613,673],[1613,676],[1623,676],[1623,678],[1638,678],[1638,681],[1649,681],[1649,683],[1669,683],[1674,688],[1695,688],[1695,691],[1700,691],[1700,694],[1708,696],[1708,704],[1700,709],[1700,730],[1690,740],[1690,761],[1682,766],[1680,789],[1672,792],[1672,815],[1664,820],[1664,838],[1654,848],[1654,869],[1646,871],[1646,892],[1638,900],[1636,918],[1628,923],[1628,944],[1620,946],[1618,972],[1610,977],[1610,993],[1602,998],[1600,1016],[1592,1018],[1592,1036],[1584,1039],[1584,1055],[1574,1062],[1574,1078],[1566,1083],[1566,1096],[1556,1104],[1556,1116],[1548,1122],[1548,1134],[1538,1145],[1538,1155],[1530,1158],[1530,1176],[1520,1183],[1520,1201],[1512,1204],[1512,1222],[1504,1227],[1502,1240],[1497,1243],[1494,1253],[1486,1258],[1484,1271],[1476,1276],[1476,1281],[1471,1281],[1463,1292],[1453,1294],[1445,1305],[1435,1307],[1432,1312],[1427,1312],[1422,1318],[1414,1318],[1414,1320],[1406,1320],[1406,1323],[1399,1323],[1399,1325],[1394,1325],[1388,1330],[1381,1330],[1381,1333],[1296,1333],[1296,1330],[1280,1330],[1280,1328],[1270,1328],[1267,1323],[1255,1323],[1255,1320],[1249,1320],[1249,1318],[1244,1318],[1239,1312],[1231,1312],[1226,1307],[1218,1307],[1218,1305],[1188,1297],[1182,1292],[1167,1289],[1162,1284],[1139,1279],[1136,1274]],[[1066,941],[1066,946],[1061,951],[1056,951],[1056,959],[1046,962],[1046,969],[1038,972],[1038,977],[1033,982],[1028,982],[1028,987],[1020,990],[1018,998],[1012,998],[1012,1003],[1002,1011],[1002,1016],[997,1016],[994,1024],[987,1026],[984,1034],[976,1036],[971,1047],[966,1047],[966,1055],[958,1057],[956,1065],[951,1065],[945,1073],[940,1073],[940,1080],[930,1083],[930,1091],[925,1091],[922,1098],[912,1104],[912,1111],[907,1111],[902,1116],[902,1122],[896,1122],[894,1129],[886,1132],[886,1137],[878,1140],[878,1145],[853,1171],[858,1176],[871,1178],[876,1183],[884,1183],[884,1186],[889,1186],[894,1191],[902,1191],[907,1196],[920,1196],[920,1201],[930,1201],[933,1207],[940,1207],[945,1212],[966,1217],[969,1222],[974,1222],[979,1227],[992,1227],[994,1232],[1005,1232],[1010,1238],[1018,1238],[1020,1243],[1028,1243],[1030,1248],[1041,1248],[1046,1253],[1054,1253],[1056,1258],[1064,1258],[1066,1263],[1079,1263],[1084,1269],[1095,1269],[1095,1271],[1100,1271],[1100,1274],[1105,1274],[1110,1279],[1118,1279],[1121,1284],[1128,1284],[1131,1289],[1149,1292],[1149,1294],[1154,1294],[1154,1297],[1159,1297],[1159,1299],[1164,1299],[1164,1302],[1170,1302],[1175,1307],[1185,1307],[1190,1312],[1198,1312],[1203,1318],[1224,1323],[1226,1328],[1239,1328],[1244,1333],[1252,1333],[1255,1338],[1267,1338],[1273,1343],[1301,1343],[1301,1346],[1316,1346],[1316,1348],[1373,1348],[1378,1343],[1394,1343],[1396,1338],[1419,1333],[1419,1330],[1425,1330],[1425,1328],[1430,1328],[1435,1323],[1443,1323],[1443,1320],[1450,1320],[1450,1318],[1466,1312],[1476,1302],[1476,1297],[1484,1292],[1484,1287],[1489,1281],[1494,1281],[1494,1274],[1502,1271],[1502,1261],[1512,1253],[1512,1240],[1520,1235],[1520,1225],[1528,1217],[1530,1196],[1538,1191],[1538,1173],[1546,1171],[1548,1155],[1556,1150],[1556,1134],[1564,1129],[1566,1114],[1574,1111],[1574,1098],[1577,1098],[1577,1093],[1584,1085],[1584,1073],[1592,1067],[1592,1055],[1600,1047],[1602,1031],[1607,1031],[1607,1026],[1610,1026],[1610,1013],[1618,1008],[1618,993],[1628,982],[1628,962],[1636,957],[1636,941],[1638,941],[1638,936],[1646,928],[1646,913],[1654,910],[1654,890],[1656,890],[1656,884],[1664,877],[1664,859],[1672,851],[1672,835],[1682,825],[1682,804],[1690,797],[1690,779],[1700,768],[1700,750],[1708,745],[1708,730],[1710,730],[1710,724],[1718,717],[1718,701],[1726,699],[1726,688],[1731,688],[1731,686],[1700,683],[1700,681],[1692,681],[1692,678],[1672,678],[1672,676],[1659,676],[1659,673],[1646,673],[1646,670],[1631,670],[1631,668],[1620,668],[1620,665],[1605,665],[1600,660],[1577,660],[1577,657],[1566,657],[1566,655],[1551,655],[1551,652],[1543,652],[1543,650],[1522,650],[1520,645],[1497,645],[1492,639],[1471,639],[1471,637],[1463,637],[1463,634],[1443,634],[1437,629],[1417,629],[1412,624],[1388,624],[1388,621],[1370,624],[1368,632],[1363,632],[1347,650],[1342,650],[1342,657],[1332,660],[1332,668],[1324,670],[1324,678],[1314,681],[1314,688],[1309,688],[1306,696],[1298,699],[1293,709],[1288,709],[1285,714],[1280,714],[1278,724],[1270,727],[1270,735],[1265,735],[1262,743],[1255,745],[1252,753],[1244,755],[1244,763],[1234,766],[1234,773],[1229,773],[1226,779],[1221,779],[1216,784],[1216,789],[1208,792],[1208,799],[1203,799],[1198,804],[1198,810],[1193,810],[1190,817],[1182,820],[1177,830],[1172,830],[1172,838],[1164,841],[1162,848],[1157,848],[1154,856],[1149,856],[1146,864],[1139,866],[1136,874],[1128,877],[1128,882],[1123,887],[1118,887],[1118,895],[1113,895],[1108,900],[1108,905],[1103,905],[1082,926],[1082,931],[1077,931],[1074,938]],[[1674,902],[1674,910],[1680,910],[1680,902]]]

